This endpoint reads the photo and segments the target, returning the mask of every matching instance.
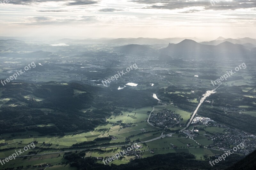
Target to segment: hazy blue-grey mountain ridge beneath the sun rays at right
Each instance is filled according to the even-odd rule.
[[[224,41],[218,45],[205,45],[193,40],[183,40],[178,44],[169,43],[166,48],[155,50],[149,46],[131,44],[117,47],[118,52],[132,55],[158,54],[160,59],[248,59],[256,55],[256,48],[247,49],[244,45]]]

